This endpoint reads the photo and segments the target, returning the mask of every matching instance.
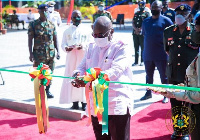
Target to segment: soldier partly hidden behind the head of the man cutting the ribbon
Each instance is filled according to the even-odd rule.
[[[107,16],[113,22],[110,12],[105,11],[104,7],[105,7],[105,4],[103,2],[100,2],[98,5],[98,11],[93,15],[93,23],[100,16]]]

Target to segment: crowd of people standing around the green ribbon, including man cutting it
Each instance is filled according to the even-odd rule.
[[[187,4],[171,9],[168,3],[168,0],[162,2],[156,0],[149,9],[145,6],[145,1],[138,2],[132,21],[135,47],[133,64],[130,61],[132,56],[129,47],[122,41],[112,39],[113,20],[103,3],[99,4],[98,11],[93,15],[93,25],[88,32],[84,32],[85,27],[81,24],[81,12],[74,10],[71,16],[72,24],[64,31],[61,45],[57,41],[57,29],[62,22],[59,13],[54,11],[55,2],[41,4],[38,6],[39,19],[30,22],[28,27],[29,59],[33,62],[33,66],[42,62],[49,65],[53,71],[54,57],[60,58],[59,47],[61,47],[67,54],[64,76],[83,76],[88,68],[99,67],[111,81],[132,82],[131,67],[139,64],[139,47],[141,47],[140,66],[144,65],[147,84],[153,84],[154,71],[157,68],[162,84],[179,85],[185,82],[185,75],[187,75],[190,80],[185,84],[199,87],[200,16],[192,16],[192,8]],[[195,17],[195,24],[191,23],[193,17]],[[49,89],[50,85],[46,87],[47,97],[53,98]],[[141,100],[152,98],[151,92],[152,90],[147,89]],[[197,121],[200,120],[199,92],[159,93],[164,96],[163,103],[167,103],[170,98],[171,108],[190,106]],[[97,140],[130,139],[132,95],[131,86],[114,83],[109,85],[108,135],[102,135],[102,125],[92,112],[93,101],[90,102],[92,125]],[[90,99],[92,100],[92,97]],[[82,110],[85,111],[87,106],[85,83],[79,78],[73,81],[64,79],[60,103],[73,103],[71,109],[77,110],[79,102],[82,103]],[[199,130],[198,121],[191,133],[192,140],[200,139]],[[179,138],[189,140],[189,134],[183,135],[174,127],[171,139]]]

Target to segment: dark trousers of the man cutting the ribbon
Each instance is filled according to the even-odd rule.
[[[92,116],[96,140],[130,140],[130,119],[128,111],[126,115],[108,115],[108,135],[102,135],[102,125]]]

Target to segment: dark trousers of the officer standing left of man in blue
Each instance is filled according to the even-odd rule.
[[[144,36],[133,34],[133,42],[134,42],[134,48],[135,48],[135,63],[138,64],[139,46],[141,47],[141,62],[143,62],[142,52],[144,48]]]

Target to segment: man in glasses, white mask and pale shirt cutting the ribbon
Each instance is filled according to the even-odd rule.
[[[85,57],[74,71],[74,75],[83,76],[88,68],[101,68],[111,81],[132,82],[132,54],[130,46],[122,41],[114,41],[113,26],[106,16],[96,19],[93,26],[95,43],[90,43]],[[73,82],[75,87],[84,87],[79,78]],[[93,130],[97,140],[130,140],[130,119],[133,111],[133,90],[130,85],[110,83],[108,93],[108,135],[102,135],[102,124],[94,115],[93,98],[90,94],[90,111]]]

